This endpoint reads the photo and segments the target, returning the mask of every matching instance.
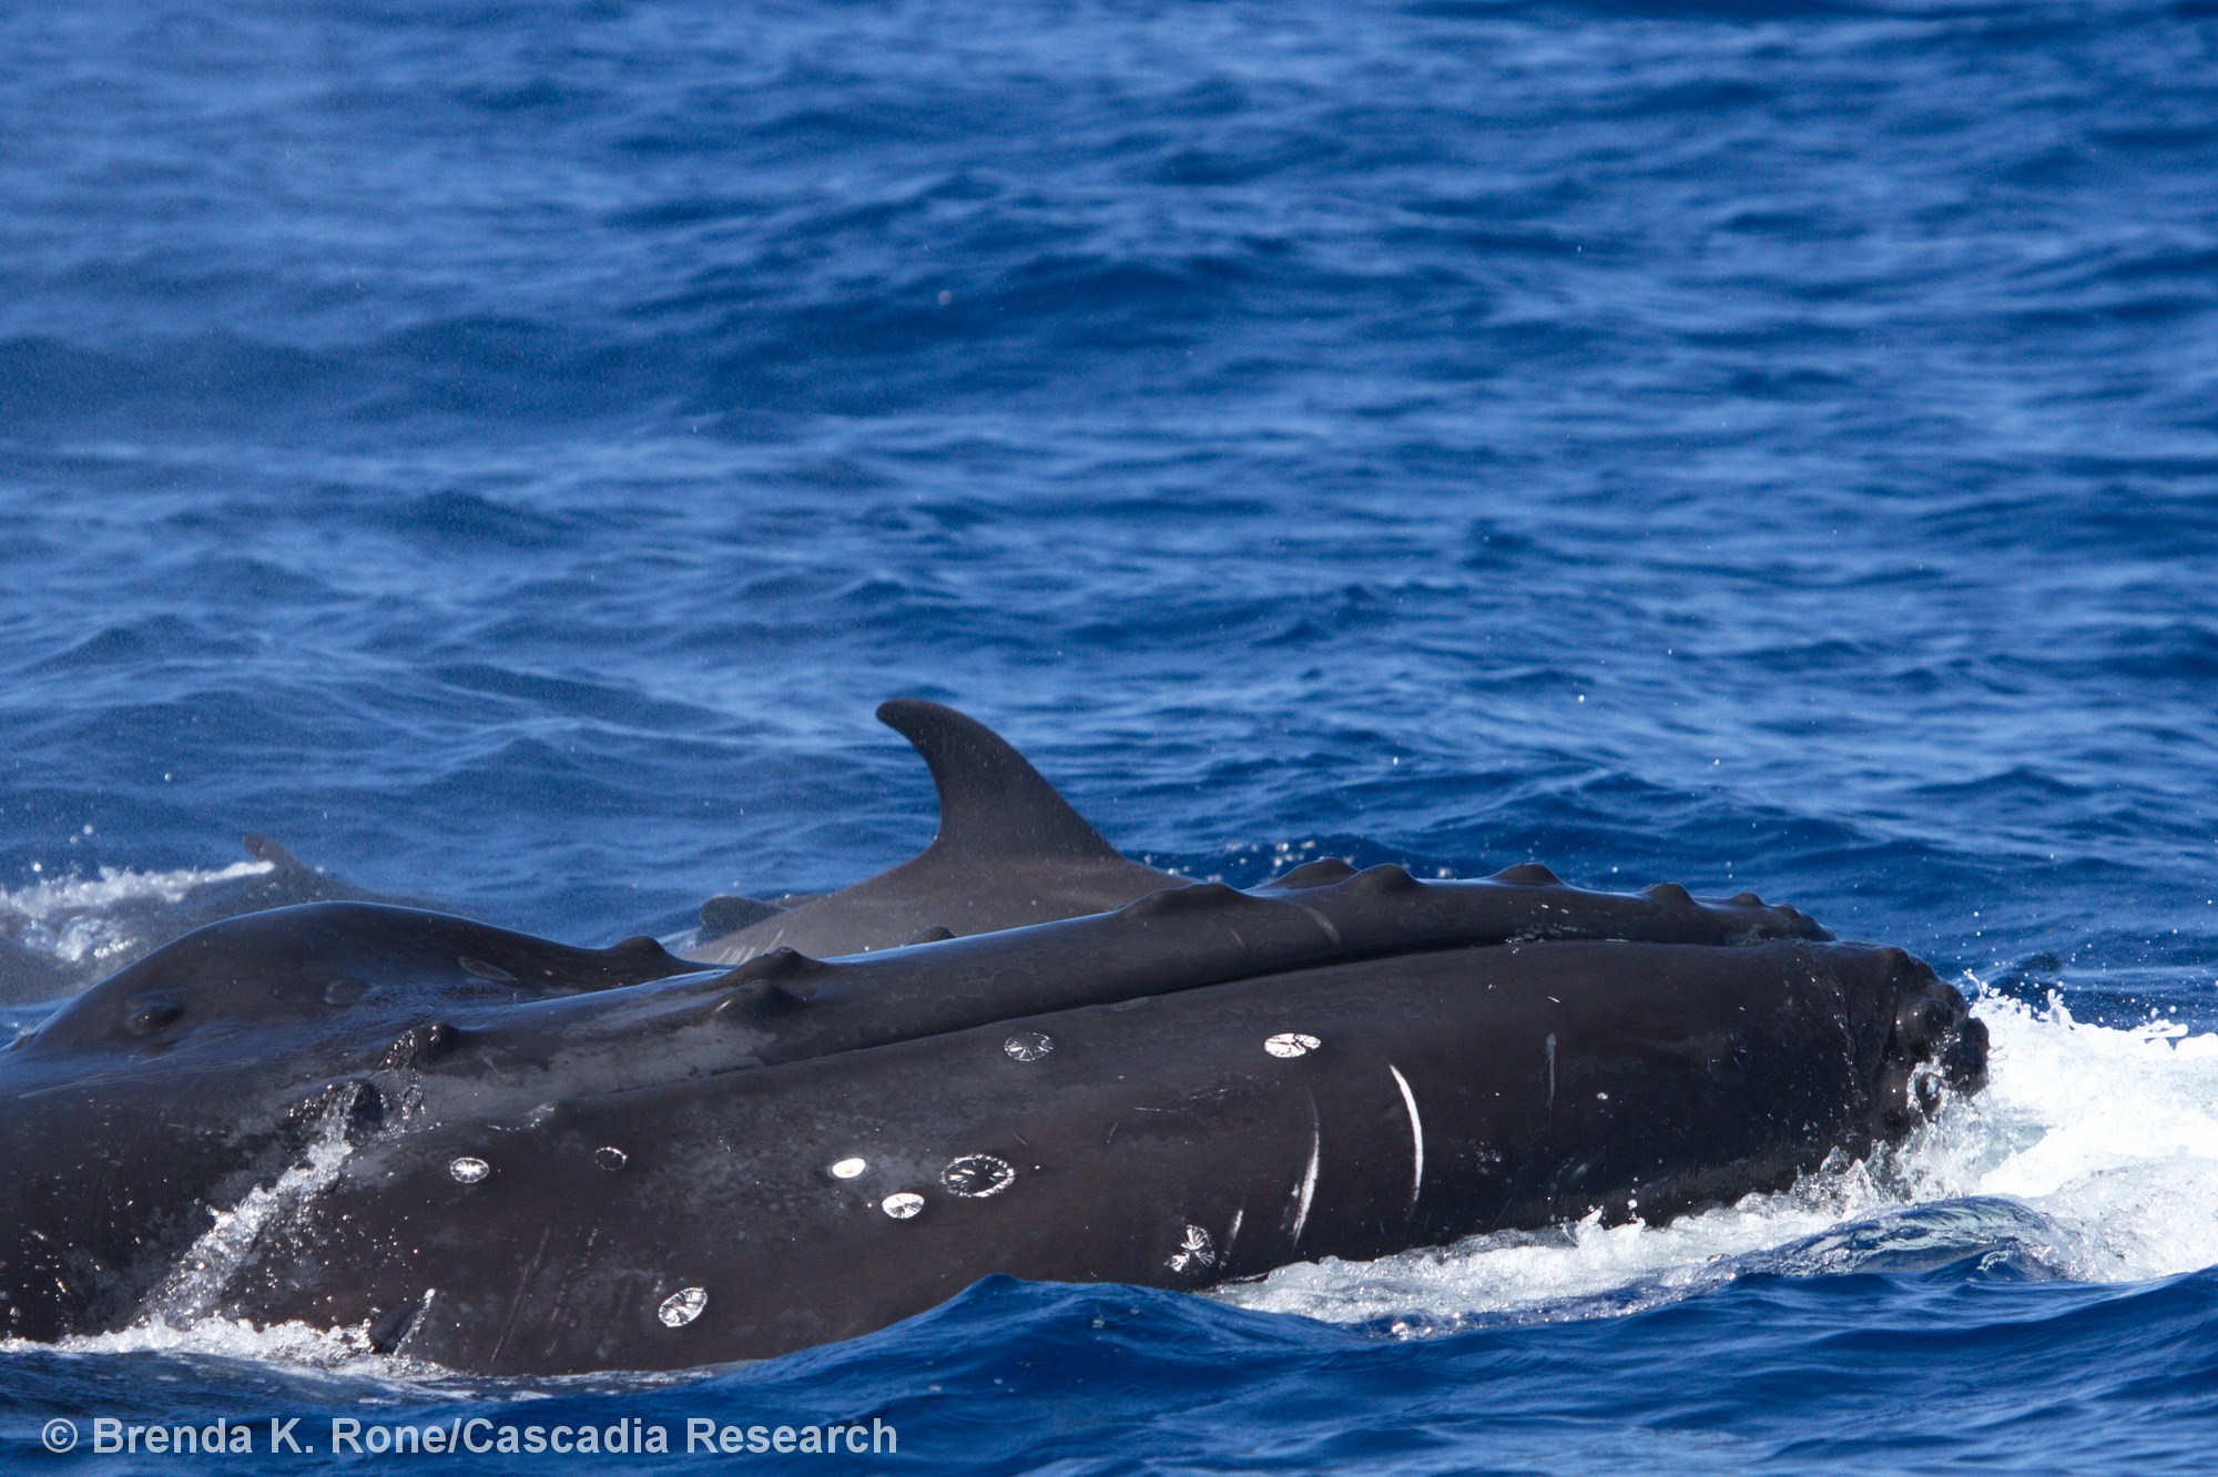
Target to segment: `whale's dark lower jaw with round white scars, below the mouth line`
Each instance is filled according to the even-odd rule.
[[[313,1251],[248,1266],[231,1306],[386,1324],[457,1368],[674,1368],[867,1333],[987,1273],[1202,1286],[1593,1209],[1668,1218],[1905,1129],[1899,1018],[1945,1013],[1932,991],[1859,945],[1464,949],[561,1102],[355,1155],[299,1229]],[[1018,1031],[1054,1051],[1014,1060]],[[1273,1058],[1282,1031],[1320,1045]],[[464,1155],[484,1182],[452,1178]],[[971,1155],[1014,1178],[952,1193]],[[849,1158],[867,1169],[834,1178]],[[923,1211],[889,1218],[892,1193]],[[1207,1266],[1178,1266],[1187,1226]],[[683,1288],[701,1315],[663,1326]]]

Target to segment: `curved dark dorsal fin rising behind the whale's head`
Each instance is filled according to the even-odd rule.
[[[916,745],[940,792],[940,856],[1102,856],[1122,860],[1102,834],[1040,778],[1000,734],[954,707],[918,699],[878,703],[885,723]]]

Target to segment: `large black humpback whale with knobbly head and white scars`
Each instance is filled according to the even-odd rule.
[[[484,1373],[878,1328],[987,1273],[1200,1288],[1666,1218],[1976,1091],[1901,949],[1752,894],[1311,863],[703,969],[319,903],[0,1051],[13,1337],[224,1315]]]

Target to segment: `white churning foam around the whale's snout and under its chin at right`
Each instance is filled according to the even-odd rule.
[[[1992,994],[1974,1013],[1992,1038],[1987,1091],[1870,1164],[1661,1226],[1588,1218],[1377,1262],[1326,1257],[1215,1295],[1426,1333],[1626,1313],[1743,1271],[1848,1271],[1905,1246],[2087,1282],[2218,1264],[2218,1036],[2080,1025],[2056,1000],[2036,1011]]]

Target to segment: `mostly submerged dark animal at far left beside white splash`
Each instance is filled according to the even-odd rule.
[[[202,876],[180,883],[175,889],[126,894],[98,903],[55,903],[42,909],[35,920],[0,909],[0,1005],[29,1005],[67,996],[193,929],[268,907],[335,900],[437,907],[421,898],[355,887],[322,867],[311,867],[268,836],[248,834],[242,836],[242,843],[260,867],[226,869],[228,876]],[[47,934],[64,934],[87,923],[98,925],[100,945],[80,958],[40,949],[24,938],[33,925]]]

